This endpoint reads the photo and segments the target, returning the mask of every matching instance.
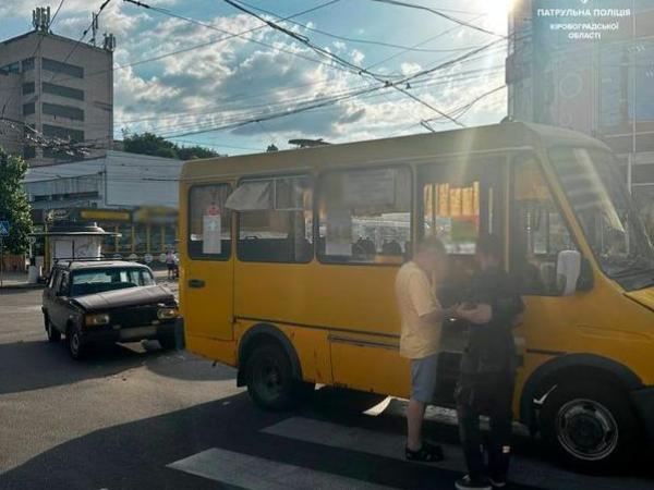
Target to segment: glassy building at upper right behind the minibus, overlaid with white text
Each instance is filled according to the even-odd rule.
[[[509,115],[604,140],[654,230],[654,0],[517,0],[509,34]]]

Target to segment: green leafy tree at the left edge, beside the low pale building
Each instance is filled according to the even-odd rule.
[[[0,220],[10,222],[9,236],[2,240],[11,254],[27,252],[27,235],[32,232],[29,200],[21,182],[27,172],[22,157],[7,155],[0,148]]]

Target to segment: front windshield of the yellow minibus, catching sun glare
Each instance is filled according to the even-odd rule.
[[[654,249],[615,158],[601,149],[554,147],[549,159],[604,272],[627,290],[654,285]]]

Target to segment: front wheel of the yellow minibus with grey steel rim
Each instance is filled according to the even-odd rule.
[[[621,469],[641,443],[627,393],[609,381],[558,384],[543,403],[540,422],[549,451],[577,471]]]

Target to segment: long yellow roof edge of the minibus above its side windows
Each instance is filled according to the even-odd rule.
[[[523,122],[416,134],[395,138],[325,145],[311,148],[191,160],[184,163],[182,181],[241,176],[307,169],[428,162],[435,157],[486,154],[576,145],[608,150],[602,142],[583,133]]]

